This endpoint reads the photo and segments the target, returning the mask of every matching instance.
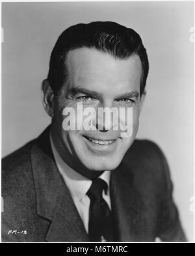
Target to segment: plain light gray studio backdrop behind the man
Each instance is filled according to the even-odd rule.
[[[40,85],[51,50],[75,23],[111,20],[135,29],[148,50],[147,98],[138,136],[166,154],[174,198],[192,240],[192,2],[3,3],[2,152],[36,137],[49,124]]]

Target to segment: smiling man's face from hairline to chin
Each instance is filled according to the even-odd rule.
[[[62,159],[64,148],[93,171],[115,169],[135,139],[142,99],[140,78],[142,65],[138,55],[128,59],[115,59],[109,53],[94,48],[79,48],[68,53],[66,60],[68,81],[58,96],[53,99],[53,139]],[[65,107],[72,107],[76,113],[77,104],[85,107],[133,107],[133,134],[121,137],[120,130],[103,130],[104,122],[94,119],[94,126],[101,130],[64,130],[62,115]],[[98,113],[97,113],[98,116]],[[99,122],[99,123],[98,123]]]

